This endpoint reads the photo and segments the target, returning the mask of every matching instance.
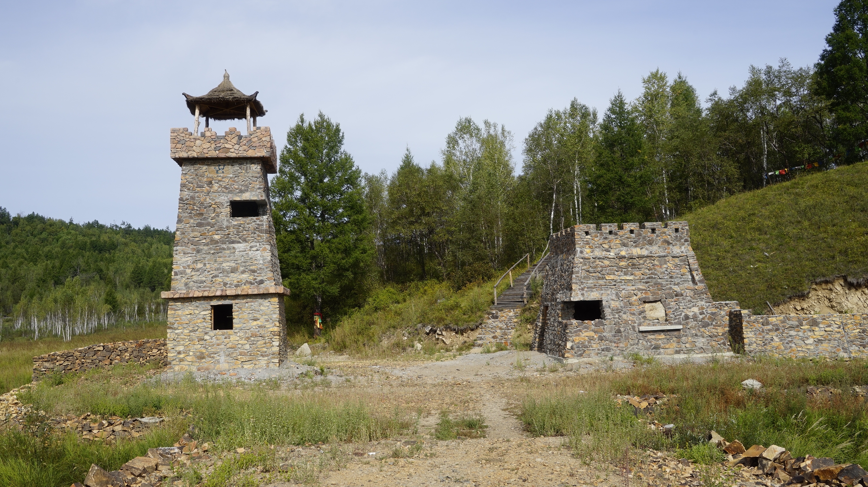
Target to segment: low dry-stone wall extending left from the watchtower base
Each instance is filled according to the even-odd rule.
[[[82,372],[116,364],[168,365],[165,339],[130,340],[83,346],[75,350],[51,352],[33,358],[33,382],[51,372]]]

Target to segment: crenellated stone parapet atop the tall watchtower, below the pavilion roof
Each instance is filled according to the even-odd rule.
[[[245,157],[260,159],[268,174],[277,173],[277,148],[268,127],[254,127],[247,135],[233,127],[224,135],[217,135],[211,128],[205,128],[200,135],[188,132],[187,128],[172,128],[169,148],[170,156],[179,166],[196,158]]]

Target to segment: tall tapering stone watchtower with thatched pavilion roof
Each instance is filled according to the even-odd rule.
[[[277,367],[286,359],[281,285],[267,174],[277,152],[256,95],[223,75],[203,96],[186,93],[194,130],[172,128],[181,194],[168,299],[168,364],[174,371]],[[199,133],[199,119],[205,130]],[[251,128],[253,118],[253,128]],[[210,120],[247,120],[247,134],[217,135]]]

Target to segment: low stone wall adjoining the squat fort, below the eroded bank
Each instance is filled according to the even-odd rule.
[[[742,319],[742,333],[744,351],[751,355],[868,356],[868,314],[865,313],[748,315]]]

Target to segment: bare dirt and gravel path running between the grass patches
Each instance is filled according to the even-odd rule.
[[[344,445],[352,448],[345,467],[321,477],[322,485],[365,486],[460,484],[496,485],[623,485],[621,471],[607,464],[583,464],[572,456],[566,438],[531,438],[513,412],[516,380],[563,372],[555,359],[538,352],[469,353],[456,359],[406,365],[334,358],[327,362],[355,386],[377,388],[384,395],[415,407],[415,440]],[[597,365],[577,365],[583,367]],[[575,372],[570,372],[575,373]],[[412,402],[412,403],[411,403]],[[486,438],[438,441],[432,432],[440,411],[476,411],[488,424]],[[396,451],[421,450],[415,457]],[[350,453],[350,452],[347,452]],[[373,454],[373,455],[372,455]],[[274,487],[288,484],[273,484]]]

